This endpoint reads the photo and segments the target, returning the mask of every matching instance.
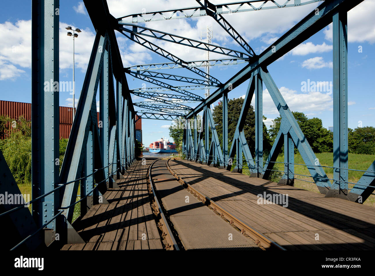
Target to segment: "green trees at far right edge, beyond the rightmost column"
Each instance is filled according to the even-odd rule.
[[[348,129],[348,150],[357,154],[375,154],[375,128]]]

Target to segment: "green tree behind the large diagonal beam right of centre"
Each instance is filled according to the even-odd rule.
[[[302,133],[305,134],[306,140],[309,142],[312,150],[318,152],[332,152],[333,151],[333,134],[323,127],[322,120],[319,118],[307,118],[302,112],[292,112]],[[281,117],[273,120],[274,124],[269,130],[272,142],[275,141],[278,135]]]

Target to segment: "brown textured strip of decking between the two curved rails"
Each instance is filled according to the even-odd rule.
[[[165,208],[164,213],[169,217],[184,249],[261,250],[254,240],[236,231],[184,189],[171,175],[165,163],[166,160],[156,161],[151,177],[157,197]]]

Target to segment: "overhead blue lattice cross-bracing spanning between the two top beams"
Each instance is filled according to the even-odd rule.
[[[147,12],[143,14],[132,14],[126,15],[121,18],[117,18],[118,26],[117,30],[121,32],[131,41],[138,43],[150,51],[159,54],[162,57],[170,60],[171,62],[164,63],[152,63],[152,64],[139,64],[124,68],[124,72],[138,78],[140,80],[147,81],[147,83],[156,84],[157,87],[144,87],[142,89],[132,89],[131,93],[138,96],[147,98],[154,101],[160,101],[165,104],[163,107],[157,107],[157,110],[169,110],[168,109],[168,98],[178,99],[191,103],[192,101],[204,101],[199,95],[193,94],[186,90],[190,90],[190,87],[182,88],[181,86],[172,86],[169,81],[185,82],[190,84],[197,84],[191,89],[214,89],[222,86],[222,83],[211,75],[208,75],[199,67],[206,66],[228,66],[228,65],[239,65],[243,63],[251,62],[255,56],[254,50],[251,46],[242,38],[242,36],[230,25],[230,23],[223,17],[223,14],[246,12],[246,11],[260,11],[265,9],[276,9],[276,8],[288,8],[293,6],[308,5],[320,0],[262,0],[262,1],[244,1],[244,2],[232,2],[220,5],[213,5],[207,0],[196,0],[199,6]],[[231,38],[238,43],[242,50],[230,49],[228,47],[222,47],[216,44],[209,44],[204,41],[198,41],[184,36],[175,35],[164,32],[163,30],[151,29],[149,27],[141,26],[135,23],[144,23],[158,20],[171,20],[178,18],[190,18],[196,16],[210,16],[221,26]],[[151,39],[151,40],[150,40]],[[195,49],[209,51],[211,53],[221,54],[227,56],[219,59],[210,60],[182,60],[174,54],[166,51],[162,47],[157,45],[157,41],[170,42],[173,44],[184,45]],[[166,72],[159,72],[161,69],[180,69],[185,68],[192,71],[199,77],[183,76],[180,75],[181,70],[178,74],[171,74]],[[182,88],[182,89],[181,89]],[[155,93],[159,91],[174,91],[175,94],[163,94]],[[147,104],[142,104],[142,108],[146,108]],[[154,106],[150,106],[149,110],[155,111]]]

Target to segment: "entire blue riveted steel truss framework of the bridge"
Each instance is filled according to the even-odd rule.
[[[84,0],[96,30],[95,41],[78,101],[65,158],[59,173],[58,116],[59,95],[45,92],[45,81],[59,81],[59,1],[33,1],[32,4],[32,214],[23,206],[1,205],[0,219],[14,235],[9,248],[35,249],[45,244],[66,244],[79,239],[72,226],[78,189],[80,202],[91,207],[106,201],[104,193],[135,161],[135,115],[145,119],[185,120],[183,153],[190,161],[215,165],[226,170],[236,163],[243,166],[242,155],[251,176],[267,179],[284,146],[284,175],[279,184],[293,186],[294,148],[300,152],[321,194],[353,202],[364,202],[375,189],[375,161],[352,189],[348,189],[348,40],[347,12],[362,1],[351,0],[251,0],[214,5],[196,0],[190,8],[130,14],[114,18],[105,0]],[[262,53],[255,53],[223,15],[282,9],[320,2],[317,10],[306,15],[293,28]],[[124,5],[126,5],[124,3]],[[154,30],[146,22],[208,16],[239,45],[240,50],[208,44],[195,39]],[[267,66],[333,22],[333,179],[329,179],[282,97]],[[124,67],[115,32],[165,59],[163,63]],[[182,60],[156,45],[155,41],[210,51],[226,58]],[[276,51],[275,51],[276,49]],[[203,66],[245,66],[228,80],[205,73]],[[185,68],[188,75],[171,74]],[[169,69],[169,70],[162,70]],[[186,71],[185,70],[185,71]],[[175,70],[174,70],[175,71]],[[183,71],[179,71],[183,72]],[[187,71],[186,71],[187,72]],[[276,72],[277,73],[277,72]],[[126,74],[151,83],[148,88],[129,88]],[[273,73],[272,73],[273,74]],[[192,77],[193,75],[193,77]],[[115,83],[114,80],[115,79]],[[169,84],[178,81],[181,85]],[[234,137],[228,137],[228,93],[247,83],[245,100]],[[281,127],[266,161],[263,161],[262,87],[267,87],[281,115]],[[195,90],[210,88],[204,99]],[[96,97],[100,98],[100,121],[96,119]],[[131,95],[150,101],[133,102]],[[255,95],[255,152],[251,152],[243,127]],[[223,140],[219,141],[210,105],[222,102]],[[196,103],[195,107],[186,103]],[[134,107],[142,110],[136,111]],[[202,112],[201,128],[196,119]],[[211,139],[209,135],[211,134]],[[231,148],[228,148],[228,138]],[[221,143],[220,143],[221,142]],[[220,146],[222,145],[222,146]],[[0,193],[20,194],[3,155],[0,153]],[[331,181],[332,180],[332,181]],[[82,206],[82,205],[81,205]],[[86,214],[81,208],[81,216]],[[57,236],[58,234],[58,236]],[[57,239],[57,237],[59,237]]]

